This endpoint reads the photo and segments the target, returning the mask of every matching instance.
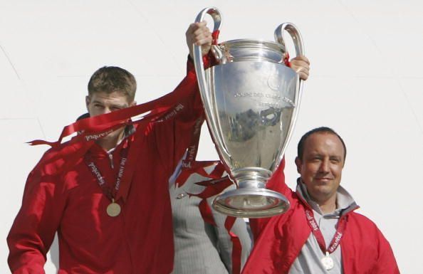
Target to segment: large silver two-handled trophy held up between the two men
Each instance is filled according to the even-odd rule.
[[[214,33],[221,25],[215,8],[209,14]],[[207,123],[221,162],[237,189],[216,196],[216,211],[259,218],[289,209],[282,194],[266,189],[266,181],[281,163],[295,124],[303,81],[285,65],[283,34],[304,55],[301,34],[292,23],[275,31],[276,42],[240,39],[211,46],[216,65],[204,70],[202,49],[194,45],[194,64]]]

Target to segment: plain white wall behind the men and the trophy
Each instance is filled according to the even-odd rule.
[[[220,41],[272,40],[279,23],[296,23],[312,70],[286,152],[288,184],[295,186],[299,137],[333,127],[348,147],[343,186],[385,233],[402,273],[421,273],[423,5],[417,0],[0,0],[0,273],[9,273],[6,235],[26,176],[47,149],[25,142],[56,140],[85,112],[88,79],[103,65],[135,74],[138,102],[171,91],[185,71],[184,32],[206,6],[224,16]],[[200,157],[214,159],[203,137]],[[46,271],[56,273],[50,261]]]

